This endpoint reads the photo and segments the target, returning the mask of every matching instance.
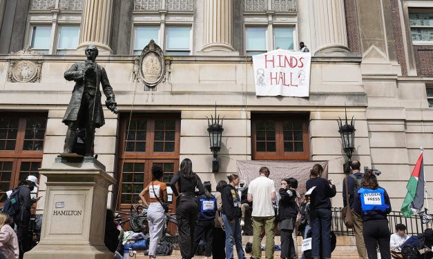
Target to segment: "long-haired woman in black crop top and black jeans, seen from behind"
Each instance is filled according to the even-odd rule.
[[[176,220],[180,253],[182,258],[191,259],[195,253],[194,233],[199,209],[197,196],[204,194],[204,187],[200,177],[193,173],[193,163],[189,158],[180,163],[180,171],[171,179],[170,187],[173,194],[179,196],[176,200]],[[196,187],[198,191],[195,191]]]

